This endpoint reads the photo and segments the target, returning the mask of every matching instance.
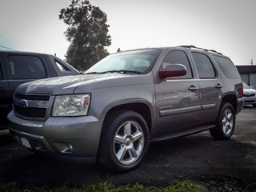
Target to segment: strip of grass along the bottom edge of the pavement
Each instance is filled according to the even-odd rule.
[[[120,186],[115,184],[114,182],[110,182],[109,180],[102,181],[99,180],[97,184],[88,184],[81,187],[55,187],[50,188],[47,186],[38,187],[34,186],[33,188],[20,186],[16,182],[0,182],[0,192],[210,192],[213,191],[207,190],[206,186],[202,186],[197,184],[196,182],[192,182],[190,180],[186,181],[178,181],[174,180],[170,182],[169,186],[143,186],[139,183],[135,185],[126,185]],[[224,186],[221,188],[218,187],[218,190],[214,191],[244,191],[247,190],[230,190],[229,183],[226,182]],[[256,190],[254,190],[256,192]]]

